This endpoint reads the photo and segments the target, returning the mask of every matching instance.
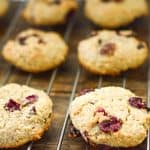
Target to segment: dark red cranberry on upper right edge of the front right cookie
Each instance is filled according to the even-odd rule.
[[[142,98],[140,97],[131,97],[129,99],[129,104],[133,107],[139,108],[139,109],[145,109],[146,104],[142,101]]]

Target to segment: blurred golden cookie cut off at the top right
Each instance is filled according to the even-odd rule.
[[[117,28],[147,15],[146,0],[86,0],[85,14],[95,24]]]

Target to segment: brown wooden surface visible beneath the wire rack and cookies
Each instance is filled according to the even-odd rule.
[[[21,3],[13,2],[10,11],[6,18],[0,20],[0,41],[1,48],[8,39],[13,38],[20,31],[33,27],[24,22],[19,16],[14,22],[14,27],[11,32],[7,29],[11,28],[11,22],[14,19],[17,8]],[[21,12],[19,12],[21,14]],[[36,27],[37,28],[37,27]],[[66,112],[70,101],[73,97],[84,88],[100,88],[103,86],[124,86],[137,95],[147,99],[147,73],[148,65],[145,63],[137,70],[128,71],[118,77],[96,76],[86,72],[78,64],[77,60],[77,44],[78,42],[90,35],[92,30],[98,29],[91,22],[86,20],[83,15],[83,10],[80,9],[74,17],[71,17],[67,24],[57,27],[41,28],[47,31],[57,31],[69,44],[70,51],[66,62],[56,70],[48,71],[42,74],[34,75],[22,72],[10,64],[6,63],[0,58],[0,84],[19,83],[28,84],[32,87],[43,89],[48,92],[54,103],[53,122],[47,133],[43,138],[33,143],[33,150],[55,150],[60,142],[60,135],[62,134],[62,127],[66,118]],[[141,39],[149,42],[149,17],[136,20],[133,24],[124,29],[133,29],[136,31]],[[9,36],[3,39],[6,34]],[[70,139],[68,137],[67,121],[64,137],[62,138],[62,150],[105,150],[104,147],[93,148],[85,144],[82,138]],[[13,123],[13,122],[12,122]],[[29,144],[18,148],[18,150],[27,149]],[[137,148],[130,148],[128,150],[146,150],[146,140]],[[119,150],[119,148],[110,148],[111,150]],[[121,150],[121,149],[120,149]]]

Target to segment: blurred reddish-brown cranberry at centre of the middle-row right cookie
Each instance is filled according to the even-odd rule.
[[[112,56],[115,52],[115,49],[116,49],[116,45],[114,43],[108,43],[108,44],[105,44],[101,48],[100,54],[107,55],[107,56]]]

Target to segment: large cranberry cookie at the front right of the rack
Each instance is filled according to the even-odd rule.
[[[93,145],[134,147],[150,126],[150,113],[141,97],[121,87],[104,87],[78,96],[71,103],[73,126]]]

